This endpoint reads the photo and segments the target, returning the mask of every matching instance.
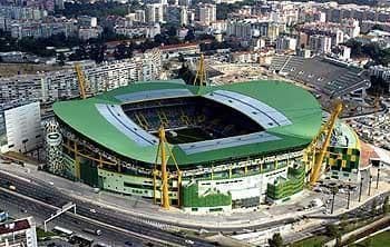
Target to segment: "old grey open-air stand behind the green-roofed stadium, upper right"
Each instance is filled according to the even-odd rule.
[[[275,56],[270,70],[333,97],[370,87],[364,70],[325,57]]]

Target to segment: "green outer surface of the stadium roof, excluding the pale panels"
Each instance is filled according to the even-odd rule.
[[[310,144],[321,127],[322,110],[316,99],[302,88],[276,80],[202,88],[177,83],[177,81],[138,82],[85,100],[56,102],[53,111],[61,121],[105,148],[135,160],[154,164],[157,146],[143,147],[128,138],[100,115],[96,105],[121,105],[124,102],[117,99],[117,96],[162,89],[187,89],[196,96],[204,96],[216,90],[236,92],[277,109],[292,122],[292,125],[265,130],[279,137],[277,140],[205,150],[192,155],[186,154],[179,145],[172,145],[173,154],[179,166],[292,150]],[[172,158],[168,162],[173,165]]]

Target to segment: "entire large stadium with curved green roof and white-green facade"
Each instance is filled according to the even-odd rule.
[[[214,87],[137,82],[56,102],[53,112],[56,121],[46,127],[50,172],[157,204],[164,127],[169,204],[192,213],[255,208],[299,194],[309,172],[305,148],[323,121],[310,92],[270,80]],[[337,145],[342,140],[334,135],[338,147],[328,160],[345,174],[359,166],[359,145]],[[343,156],[334,151],[351,157],[352,144],[353,161],[338,160]]]

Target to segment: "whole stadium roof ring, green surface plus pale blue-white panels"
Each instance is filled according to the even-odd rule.
[[[135,126],[121,112],[120,106],[167,97],[196,96],[214,100],[214,92],[223,92],[223,98],[215,99],[220,103],[240,110],[265,130],[257,132],[257,136],[198,141],[193,146],[170,145],[181,166],[296,149],[308,145],[321,126],[322,110],[310,92],[292,83],[269,80],[203,88],[170,81],[138,82],[86,100],[57,102],[53,111],[61,121],[105,148],[130,159],[153,164],[157,154],[156,141],[143,132],[142,127]],[[107,110],[101,110],[101,106],[107,106]],[[257,109],[256,115],[251,110],[254,108]],[[270,119],[273,126],[264,124]],[[240,138],[240,141],[234,138]],[[216,148],[206,148],[209,141],[214,141]],[[168,162],[173,165],[173,160]]]

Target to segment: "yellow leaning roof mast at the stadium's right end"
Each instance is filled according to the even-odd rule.
[[[324,160],[325,155],[328,152],[330,141],[331,141],[332,131],[334,129],[335,121],[339,118],[341,111],[342,111],[342,102],[339,101],[339,102],[337,102],[334,110],[332,111],[331,117],[325,122],[325,125],[321,128],[320,134],[314,138],[313,142],[309,147],[312,149],[311,152],[312,152],[313,157],[315,157],[314,165],[311,168],[311,175],[310,175],[310,185],[311,186],[313,186],[321,176],[321,169],[322,169],[323,160]],[[325,135],[325,139],[320,148],[319,154],[315,155],[316,144],[323,135]]]

